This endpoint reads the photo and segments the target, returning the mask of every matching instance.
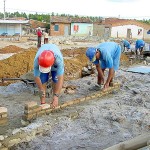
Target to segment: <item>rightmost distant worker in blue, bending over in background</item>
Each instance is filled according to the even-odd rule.
[[[140,55],[142,55],[144,46],[145,46],[145,42],[143,40],[141,39],[136,40],[136,43],[135,43],[136,55],[138,55],[138,50],[139,50]]]

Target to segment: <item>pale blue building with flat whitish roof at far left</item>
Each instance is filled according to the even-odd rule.
[[[0,35],[24,35],[26,27],[29,26],[28,20],[0,20]]]

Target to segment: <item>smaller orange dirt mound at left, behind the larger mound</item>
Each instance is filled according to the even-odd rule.
[[[15,45],[9,45],[9,46],[6,46],[6,47],[0,49],[0,54],[18,53],[18,52],[23,51],[23,50],[25,50],[25,49],[17,47]]]

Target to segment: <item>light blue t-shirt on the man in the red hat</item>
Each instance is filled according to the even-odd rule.
[[[36,56],[34,58],[34,76],[39,77],[41,72],[39,71],[39,63],[38,63],[38,57],[44,50],[50,50],[54,53],[54,64],[51,67],[51,71],[56,71],[56,75],[60,76],[64,74],[64,60],[62,53],[60,49],[55,44],[43,44],[38,52],[36,53]]]

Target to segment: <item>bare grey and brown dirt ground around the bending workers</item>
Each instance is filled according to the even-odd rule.
[[[4,46],[2,47],[3,44]],[[0,54],[4,53],[2,51],[10,50],[7,47],[10,45],[15,45],[16,47],[10,46],[13,47],[13,50],[10,50],[9,53],[17,53],[0,61],[0,78],[20,77],[20,75],[32,70],[33,58],[37,50],[36,46],[34,44],[34,46],[29,46],[27,43],[21,43],[19,46],[19,44],[0,42]],[[95,44],[93,43],[93,45]],[[60,103],[99,90],[96,87],[96,73],[84,78],[79,78],[79,75],[76,74],[87,64],[85,50],[89,45],[91,43],[82,43],[81,46],[78,45],[77,50],[63,51],[64,57],[67,58],[65,60],[65,84],[75,86],[76,89],[73,94],[62,93]],[[61,45],[61,47],[63,46]],[[69,46],[67,45],[67,47]],[[72,53],[73,51],[75,56]],[[108,96],[93,99],[81,105],[67,107],[49,116],[37,118],[28,125],[29,128],[39,124],[44,126],[46,123],[51,126],[51,130],[43,132],[43,134],[36,136],[30,142],[17,144],[11,149],[102,150],[149,132],[149,74],[127,72],[126,69],[129,67],[128,59],[126,56],[122,56],[121,60],[120,69],[116,72],[115,77],[115,81],[121,83],[119,91],[114,91]],[[11,84],[6,82],[5,84],[8,85],[0,86],[0,106],[8,108],[9,124],[5,127],[0,127],[0,135],[9,133],[16,128],[23,128],[21,116],[24,113],[24,104],[31,100],[39,103],[39,97],[33,95],[34,88],[32,86],[23,82]],[[49,102],[48,98],[47,102]]]

